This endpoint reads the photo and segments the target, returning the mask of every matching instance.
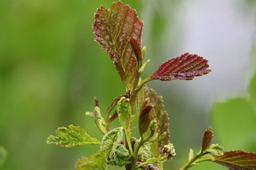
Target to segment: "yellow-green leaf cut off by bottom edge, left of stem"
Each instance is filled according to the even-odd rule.
[[[77,160],[75,167],[79,170],[106,170],[105,155],[98,151],[90,155],[90,157],[82,157]]]

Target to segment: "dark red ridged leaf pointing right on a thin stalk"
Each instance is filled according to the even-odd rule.
[[[192,80],[195,76],[208,74],[208,60],[196,54],[184,53],[180,57],[170,59],[152,74],[152,78],[159,80]]]

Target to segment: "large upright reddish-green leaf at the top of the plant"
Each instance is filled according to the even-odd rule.
[[[143,22],[136,11],[120,1],[113,3],[109,10],[101,6],[95,13],[95,41],[108,52],[127,89],[133,88],[138,66],[128,38],[141,42],[142,28]]]

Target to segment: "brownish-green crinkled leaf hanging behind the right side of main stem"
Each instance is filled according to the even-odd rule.
[[[163,146],[169,143],[170,132],[169,132],[169,118],[168,113],[164,111],[163,105],[163,97],[157,96],[156,92],[153,89],[150,89],[145,85],[140,92],[140,106],[143,107],[143,101],[149,100],[154,109],[154,117],[157,120],[157,132],[159,136],[166,132],[166,136],[161,141],[155,141],[153,143],[153,150],[156,150],[157,153],[154,155],[158,155],[161,153]],[[153,119],[153,118],[152,118]]]

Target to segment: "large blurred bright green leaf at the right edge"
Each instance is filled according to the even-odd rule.
[[[217,103],[211,111],[212,127],[219,143],[228,150],[255,150],[256,112],[250,101],[243,98]]]

